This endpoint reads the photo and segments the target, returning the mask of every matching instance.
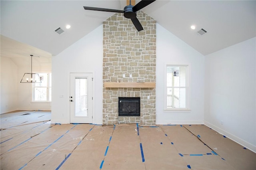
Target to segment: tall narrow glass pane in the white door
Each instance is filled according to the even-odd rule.
[[[87,78],[75,78],[75,116],[87,116]]]

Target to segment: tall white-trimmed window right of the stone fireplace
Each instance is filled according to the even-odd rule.
[[[188,94],[188,65],[166,65],[164,110],[188,111]]]

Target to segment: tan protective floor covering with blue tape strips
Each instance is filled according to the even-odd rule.
[[[1,170],[255,170],[256,153],[205,125],[50,124],[1,114]]]

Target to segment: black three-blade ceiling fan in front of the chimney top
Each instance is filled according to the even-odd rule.
[[[85,10],[94,10],[94,11],[104,11],[104,12],[118,12],[118,13],[124,13],[124,17],[131,19],[132,23],[134,24],[135,28],[138,31],[143,30],[142,25],[140,24],[137,16],[137,11],[141,10],[142,8],[148,6],[152,2],[156,0],[141,0],[138,4],[135,6],[131,5],[131,0],[130,4],[124,7],[124,10],[112,10],[112,9],[107,9],[107,8],[96,8],[96,7],[89,7],[89,6],[84,6]]]

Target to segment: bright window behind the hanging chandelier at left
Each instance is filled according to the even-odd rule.
[[[38,73],[42,83],[33,83],[32,101],[52,101],[52,73]]]

